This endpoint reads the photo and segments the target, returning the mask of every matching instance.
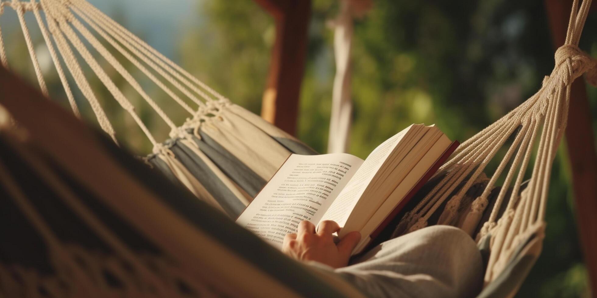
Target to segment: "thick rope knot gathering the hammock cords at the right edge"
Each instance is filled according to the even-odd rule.
[[[597,61],[576,45],[562,45],[555,53],[556,69],[562,67],[561,79],[566,85],[586,73],[587,82],[597,86]]]

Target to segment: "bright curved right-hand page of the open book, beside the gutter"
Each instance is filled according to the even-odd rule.
[[[398,142],[401,141],[412,127],[411,125],[387,139],[369,154],[365,162],[355,173],[355,176],[350,179],[350,182],[348,182],[346,187],[338,195],[337,200],[334,201],[328,212],[325,213],[322,218],[323,220],[335,221],[340,226],[346,224],[346,219],[350,215],[350,211],[355,207],[355,204],[365,191],[365,188],[367,188],[367,185],[371,182],[371,179],[376,175]]]

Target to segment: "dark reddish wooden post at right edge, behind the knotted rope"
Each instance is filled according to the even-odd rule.
[[[545,0],[545,6],[554,48],[558,48],[564,45],[572,1]],[[589,272],[589,287],[597,296],[597,154],[587,91],[581,77],[571,86],[566,143],[572,170],[578,235]]]

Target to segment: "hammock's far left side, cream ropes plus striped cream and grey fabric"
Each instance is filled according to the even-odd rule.
[[[96,76],[152,142],[154,153],[147,157],[148,162],[168,177],[176,178],[178,183],[189,188],[197,197],[231,218],[236,218],[244,210],[291,153],[316,154],[293,136],[230,103],[86,1],[2,1],[0,16],[8,8],[16,11],[19,17],[33,69],[44,95],[48,95],[48,90],[33,50],[29,27],[24,20],[25,13],[35,15],[76,115],[79,115],[79,107],[73,97],[72,86],[69,85],[69,75],[93,108],[100,127],[116,141],[116,132],[88,82],[88,77]],[[90,44],[90,48],[85,44]],[[124,95],[122,89],[126,86],[119,89],[115,85],[107,76],[107,70],[104,69],[106,66],[100,65],[91,55],[92,49],[170,127],[171,139],[156,141],[137,115],[131,99]],[[82,57],[82,61],[75,54]],[[174,125],[173,120],[147,94],[130,71],[125,69],[125,61],[119,61],[115,54],[133,64],[146,79],[155,83],[168,98],[189,113],[184,125]],[[0,61],[5,67],[10,67],[1,30]],[[88,64],[93,70],[92,74],[83,72],[82,62]],[[196,108],[192,108],[192,105]]]

